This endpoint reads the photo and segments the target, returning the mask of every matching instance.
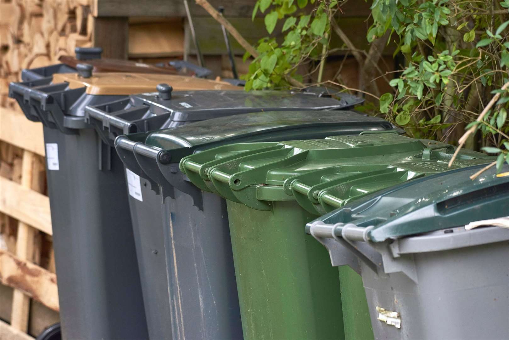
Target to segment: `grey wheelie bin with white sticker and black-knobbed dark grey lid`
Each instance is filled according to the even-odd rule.
[[[158,89],[159,92],[156,93],[133,95],[99,106],[87,107],[87,119],[91,125],[96,127],[104,143],[112,144],[115,137],[118,135],[130,133],[132,134],[130,136],[132,136],[134,140],[131,144],[134,144],[138,140],[144,140],[140,137],[144,136],[143,134],[133,134],[134,132],[150,131],[162,127],[175,128],[188,122],[200,121],[212,117],[230,116],[242,112],[264,110],[290,112],[292,109],[296,108],[315,110],[347,109],[362,101],[362,99],[357,97],[343,94],[341,94],[341,98],[332,98],[324,92],[324,90],[327,89],[314,89],[316,92],[308,90],[306,92],[253,91],[250,93],[245,93],[243,91],[178,92],[171,91],[171,88],[166,85],[160,85]],[[354,125],[353,129],[355,132],[358,132],[361,126],[362,129],[392,128],[386,121],[378,118],[369,118],[350,111],[320,111],[320,113],[316,115],[314,115],[313,112],[306,112],[306,114],[312,116],[313,119],[317,121],[320,121],[320,119],[325,119],[323,120],[324,122],[330,121],[331,117],[334,117],[334,120],[332,120],[334,122],[342,120],[354,121],[352,125]],[[303,114],[299,116],[299,118],[301,117],[303,117]],[[262,126],[258,127],[258,129],[265,128],[263,124],[260,123],[261,119],[263,120],[261,116],[258,116],[257,122],[259,126]],[[241,120],[232,119],[225,123],[232,124],[229,129],[231,134],[240,133],[239,126],[242,126]],[[276,126],[279,127],[281,124],[282,123],[279,123],[279,125]],[[359,127],[357,127],[357,125]],[[199,126],[201,128],[201,130],[199,130],[201,134],[210,133],[207,123]],[[218,130],[221,129],[228,129],[228,126],[217,127],[214,134],[218,134]],[[249,130],[249,132],[252,131]],[[192,138],[191,143],[205,143],[215,138],[216,137],[210,135],[202,136],[198,140]],[[177,145],[180,144],[177,143]],[[144,157],[144,151],[147,151],[147,148],[138,144],[136,150],[142,150],[137,158],[143,163],[146,159]],[[150,150],[147,152],[152,154]],[[153,165],[147,166],[156,166],[156,163],[154,162]],[[159,237],[162,235],[163,227],[160,226],[162,222],[159,222],[159,224],[157,224],[158,228],[154,228],[154,231],[152,231],[152,229],[144,228],[143,225],[146,224],[146,221],[154,220],[154,216],[161,216],[161,198],[156,196],[156,192],[159,193],[158,184],[152,180],[152,177],[144,175],[141,171],[137,171],[137,168],[138,166],[129,166],[128,170],[126,170],[127,183],[129,184],[128,192],[131,195],[129,196],[129,204],[131,206],[135,234],[134,240],[142,278],[142,291],[149,334],[153,338],[160,338],[166,337],[172,332],[172,322],[169,317],[171,310],[169,309],[169,298],[167,297],[168,284],[166,279],[165,252],[162,236]],[[173,168],[178,168],[178,161],[177,164],[173,165]],[[140,184],[139,175],[142,175],[142,184]],[[121,176],[124,177],[124,174]],[[188,184],[188,186],[191,187],[190,184]],[[150,192],[150,188],[155,192]],[[127,192],[125,187],[123,190]],[[145,190],[148,190],[148,193],[143,192]],[[167,190],[173,192],[172,188],[163,190],[163,196],[166,195]],[[133,199],[132,196],[143,201],[143,203]],[[137,208],[137,204],[143,204],[143,207]],[[135,208],[133,208],[133,206],[135,206]],[[149,246],[150,250],[147,252]],[[166,298],[164,298],[165,296]],[[236,299],[235,294],[232,296]],[[179,324],[173,325],[173,327],[178,326]],[[195,325],[193,327],[197,328]],[[179,328],[175,328],[174,334],[178,330]],[[190,331],[188,331],[187,334],[189,334],[189,332]],[[227,334],[226,330],[224,330],[224,332],[224,334]],[[177,333],[177,336],[180,335]],[[203,334],[202,336],[207,336],[207,334]]]

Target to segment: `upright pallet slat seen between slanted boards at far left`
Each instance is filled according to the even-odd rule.
[[[21,187],[32,188],[33,167],[35,154],[33,152],[23,151],[23,163],[21,170]],[[36,229],[30,225],[19,221],[16,237],[16,256],[20,260],[33,260],[34,241]],[[11,326],[23,332],[29,330],[30,316],[30,297],[23,291],[15,290],[12,297]]]

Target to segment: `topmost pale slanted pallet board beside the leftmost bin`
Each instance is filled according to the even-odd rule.
[[[0,108],[0,140],[44,156],[42,124],[17,111]]]

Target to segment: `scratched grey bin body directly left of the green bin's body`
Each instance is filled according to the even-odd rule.
[[[203,193],[203,210],[178,190],[163,228],[174,338],[241,339],[239,301],[224,199]]]

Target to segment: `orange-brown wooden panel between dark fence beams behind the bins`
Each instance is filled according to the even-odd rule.
[[[175,57],[183,53],[182,19],[129,25],[129,58]]]

